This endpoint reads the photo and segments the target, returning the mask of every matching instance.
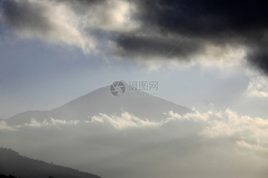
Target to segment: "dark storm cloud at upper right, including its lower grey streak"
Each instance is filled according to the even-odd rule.
[[[241,44],[252,48],[248,60],[268,74],[268,12],[264,1],[167,0],[134,3],[139,11],[133,18],[141,21],[143,32],[150,29],[160,33],[161,38],[170,34],[174,37],[190,34],[188,43],[180,45],[173,56],[182,55],[187,58],[188,54],[200,52],[204,42],[221,46]],[[177,39],[177,43],[180,40]],[[162,41],[160,45],[157,37],[151,39],[135,37],[133,34],[121,34],[116,42],[124,49],[124,55],[127,52],[161,54],[162,50],[165,51],[162,56],[165,56],[172,49],[171,43],[175,46],[174,40],[170,40],[168,45]]]

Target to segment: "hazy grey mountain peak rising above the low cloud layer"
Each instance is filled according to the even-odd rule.
[[[126,83],[125,85],[127,87]],[[155,96],[128,96],[128,91],[126,91],[123,96],[115,97],[110,93],[110,86],[106,86],[50,111],[27,111],[19,113],[6,121],[8,125],[18,125],[30,123],[32,118],[40,122],[50,118],[90,120],[91,116],[99,113],[118,115],[123,111],[133,113],[143,120],[155,121],[165,118],[166,116],[163,113],[170,110],[178,114],[191,112],[187,107]]]

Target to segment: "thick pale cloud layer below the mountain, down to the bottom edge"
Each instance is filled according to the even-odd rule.
[[[128,112],[12,127],[1,121],[1,146],[103,177],[266,177],[267,120],[228,108],[165,114],[157,122]]]

